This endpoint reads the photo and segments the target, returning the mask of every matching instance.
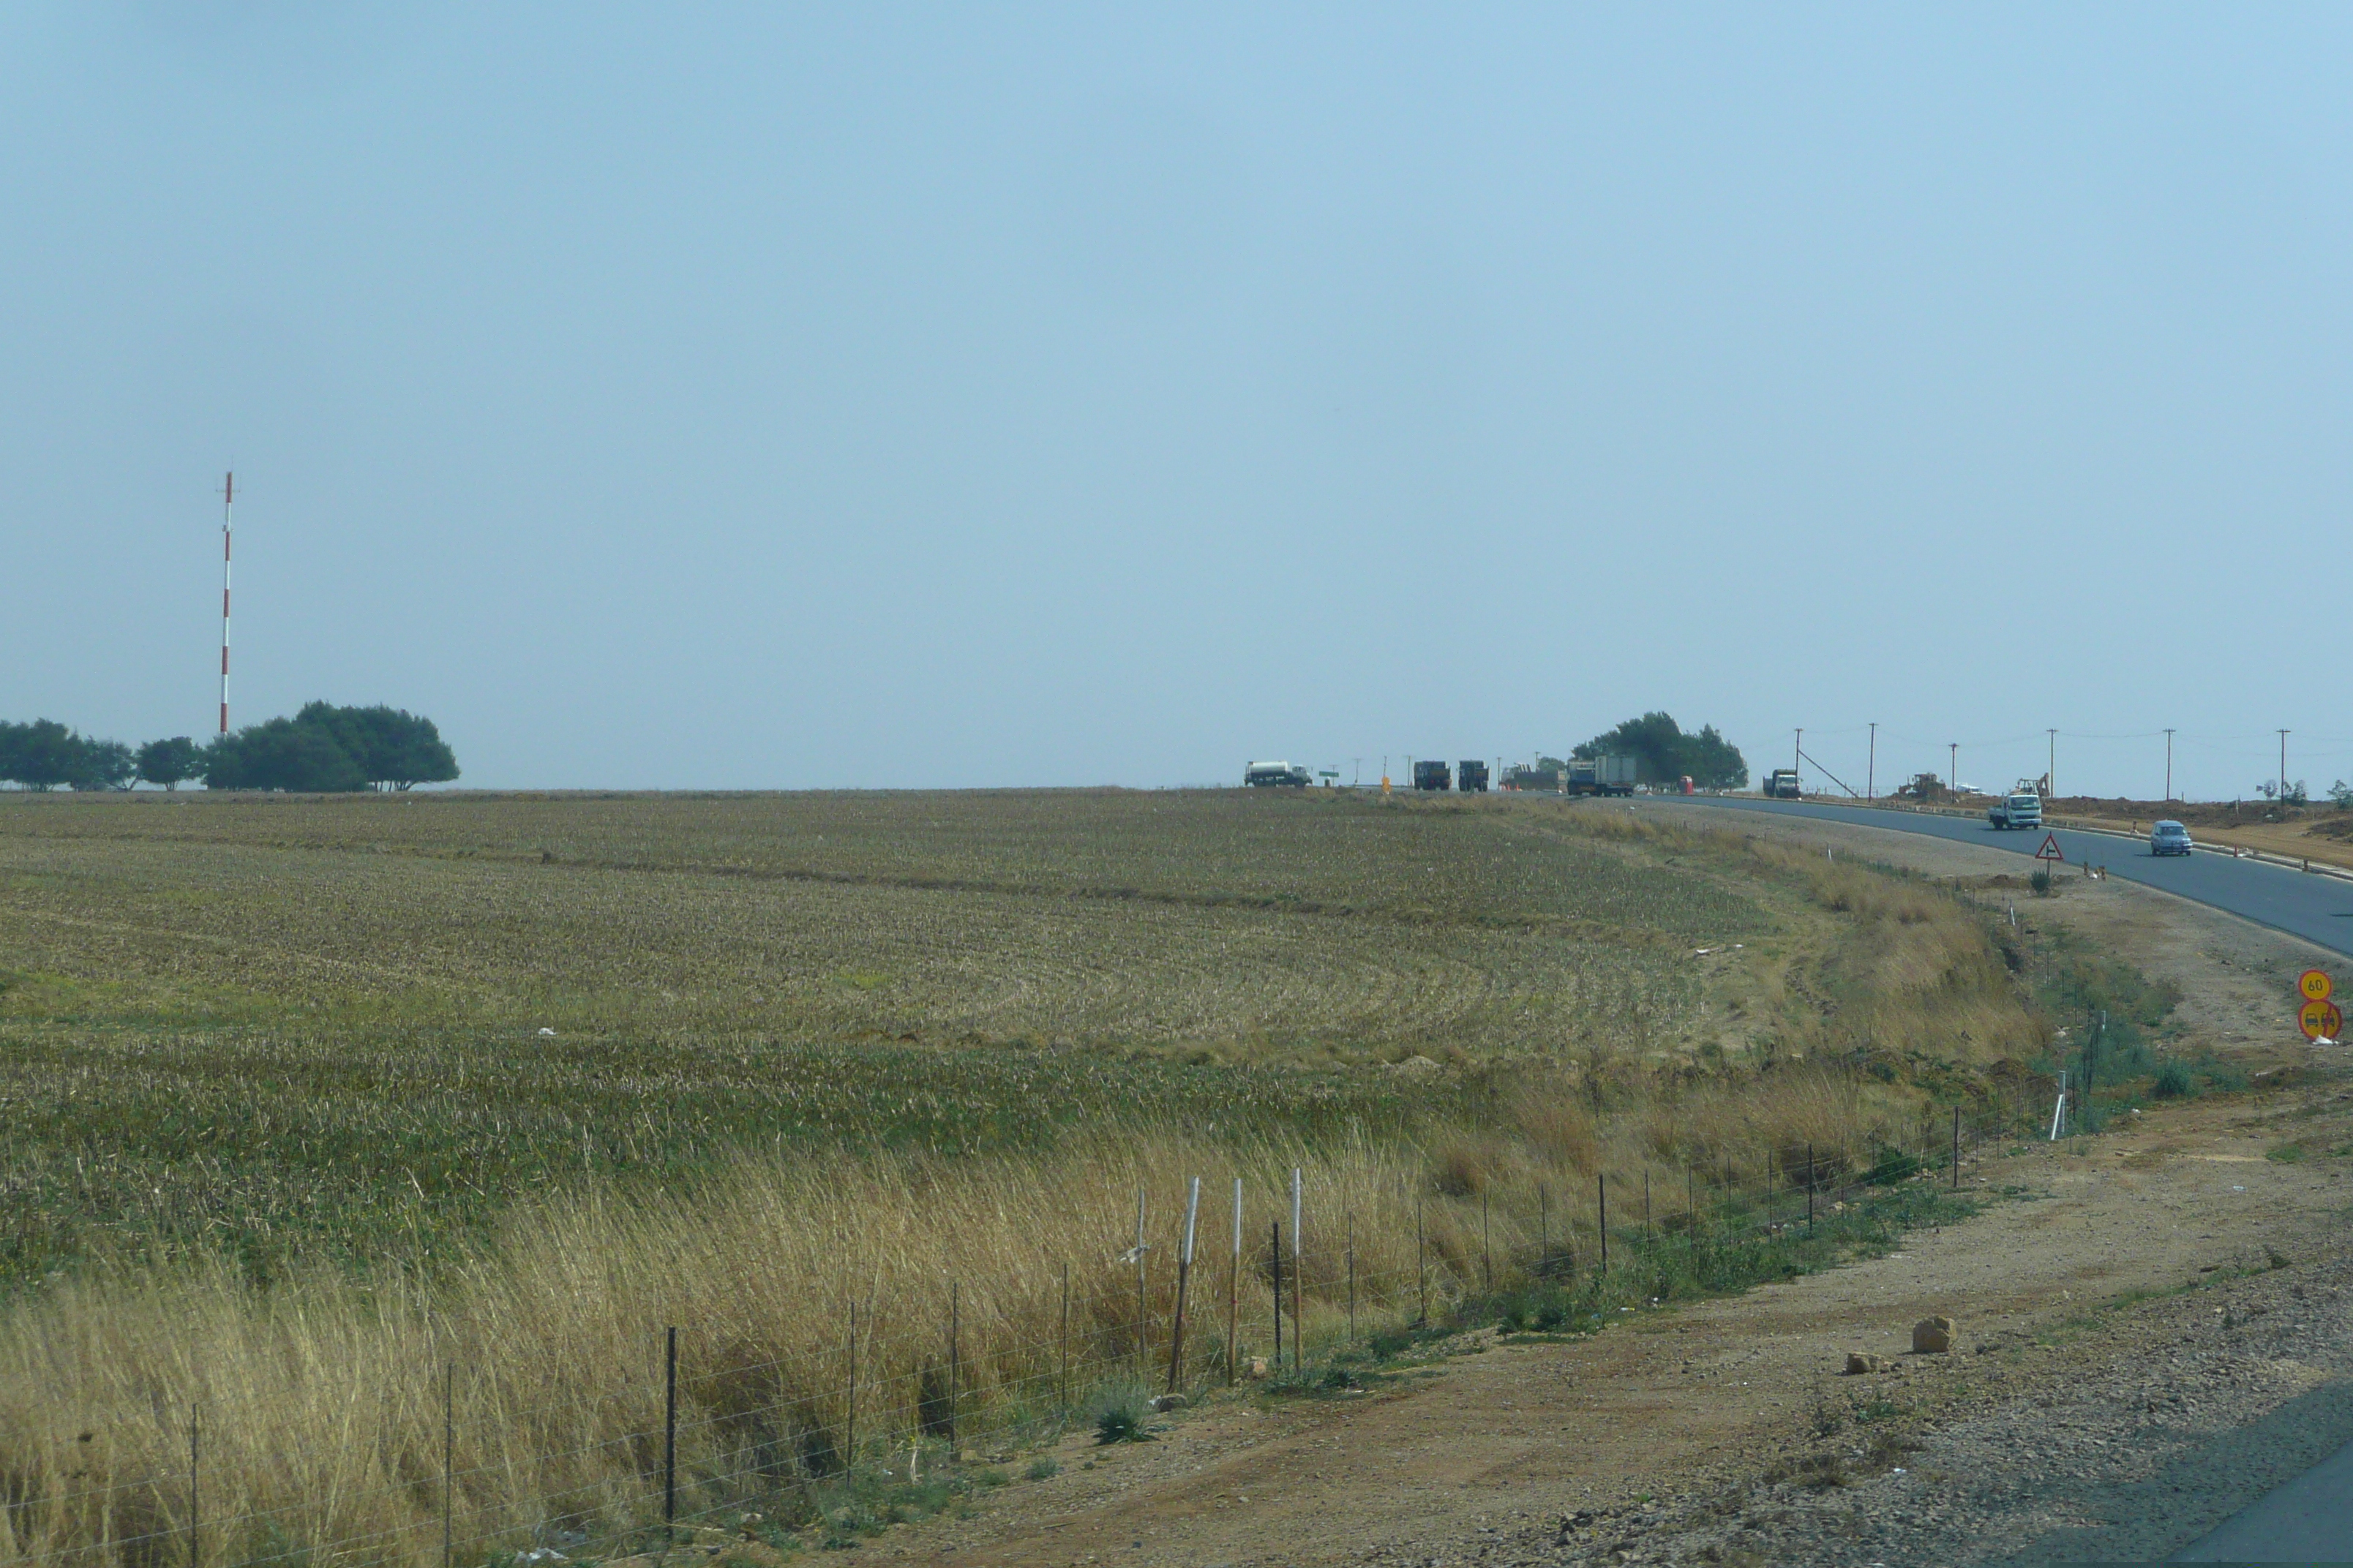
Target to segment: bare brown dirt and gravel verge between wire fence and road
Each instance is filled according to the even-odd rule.
[[[1932,875],[1998,858],[1817,823],[1788,837]],[[1367,1396],[1212,1403],[1151,1446],[1071,1439],[1059,1476],[842,1561],[1991,1563],[2191,1540],[2353,1436],[2353,1194],[2327,1157],[2353,1140],[2353,1098],[2287,1034],[2308,957],[2292,938],[2118,882],[2031,917],[2174,978],[2191,1044],[2297,1084],[1967,1166],[2019,1197],[1899,1255],[1588,1342],[1475,1338]],[[2266,1159],[2289,1140],[2308,1154]],[[1901,1354],[1934,1312],[1960,1321],[1960,1354]],[[1840,1378],[1845,1352],[1904,1371]]]

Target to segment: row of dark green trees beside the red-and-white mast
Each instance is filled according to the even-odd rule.
[[[456,755],[424,715],[400,708],[306,703],[292,719],[268,719],[198,743],[191,736],[129,748],[59,724],[0,719],[0,780],[26,790],[407,790],[456,778]]]

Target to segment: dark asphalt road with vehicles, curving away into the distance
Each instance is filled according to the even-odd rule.
[[[2019,858],[2031,858],[2042,844],[2042,832],[1995,832],[1986,818],[1965,816],[1826,806],[1809,799],[1737,799],[1727,795],[1675,797],[1675,804],[1817,816],[1833,823],[1892,827],[1894,832],[1925,832],[1939,839],[1984,844],[1986,849],[2009,849]],[[2353,954],[2353,882],[2297,872],[2285,865],[2264,865],[2259,860],[2233,860],[2231,856],[2207,851],[2158,858],[2148,853],[2144,839],[2118,839],[2104,832],[2071,832],[2066,827],[2052,827],[2049,832],[2059,839],[2059,853],[2066,856],[2066,865],[2057,867],[2061,875],[2080,875],[2085,860],[2089,860],[2106,867],[2111,877],[2195,898],[2198,903],[2228,910],[2275,931],[2320,943],[2334,952]]]

